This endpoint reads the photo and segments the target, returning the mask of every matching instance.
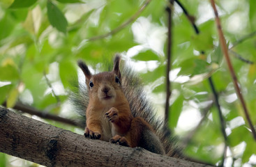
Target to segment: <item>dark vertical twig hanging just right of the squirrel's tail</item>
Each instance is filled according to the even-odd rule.
[[[167,6],[168,12],[168,34],[167,34],[167,65],[166,65],[166,100],[165,100],[165,126],[170,119],[170,96],[171,96],[171,83],[170,83],[170,70],[172,66],[172,10],[173,10],[173,0],[170,0]],[[168,126],[167,126],[168,127]]]

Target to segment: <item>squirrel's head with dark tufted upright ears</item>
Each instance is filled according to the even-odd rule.
[[[113,70],[98,74],[91,74],[89,68],[83,61],[77,62],[82,72],[84,72],[90,101],[96,104],[113,105],[116,99],[123,97],[121,72],[119,70],[120,60],[120,56],[117,55],[114,58]]]

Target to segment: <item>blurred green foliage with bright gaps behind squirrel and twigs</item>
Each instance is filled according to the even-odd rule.
[[[103,57],[119,52],[140,74],[154,107],[163,116],[167,0],[150,1],[132,23],[117,33],[110,33],[132,18],[145,2],[0,1],[0,104],[6,101],[8,107],[13,107],[20,101],[66,118],[74,117],[75,112],[67,109],[66,90],[70,89],[70,81],[77,79],[77,59],[84,59],[97,71],[100,63],[105,63]],[[199,0],[181,0],[181,3],[195,17],[200,33],[196,35],[186,15],[175,3],[170,127],[181,138],[186,138],[186,134],[190,134],[203,118],[186,145],[185,153],[220,164],[225,142],[217,108],[212,104],[213,94],[208,81],[211,76],[227,126],[229,145],[225,166],[254,166],[256,142],[234,94],[210,3]],[[256,1],[223,0],[216,3],[227,45],[233,51],[230,56],[234,70],[255,125],[256,35],[253,32],[256,31]],[[93,40],[106,33],[110,35]],[[240,39],[243,40],[239,42]],[[241,61],[241,58],[253,63]],[[43,121],[79,132],[75,127]],[[17,166],[6,161],[10,157],[5,154],[0,154],[0,157],[0,166]]]

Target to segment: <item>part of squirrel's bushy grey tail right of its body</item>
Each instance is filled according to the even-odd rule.
[[[158,119],[156,112],[144,93],[140,78],[137,77],[130,67],[123,65],[121,69],[123,93],[130,104],[130,109],[134,117],[140,116],[153,127],[156,135],[163,143],[163,148],[169,157],[183,158],[181,149],[177,146],[177,139],[170,130],[164,126],[164,121]]]

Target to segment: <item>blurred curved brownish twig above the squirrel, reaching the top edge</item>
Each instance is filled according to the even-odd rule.
[[[92,38],[89,38],[88,41],[93,41],[93,40],[100,40],[103,38],[106,38],[110,35],[114,35],[115,33],[118,33],[119,31],[121,31],[121,29],[125,28],[126,26],[128,26],[128,24],[132,23],[135,21],[135,19],[137,19],[137,17],[140,16],[140,14],[142,13],[142,11],[146,8],[146,6],[149,5],[149,3],[151,2],[151,0],[146,0],[142,6],[140,7],[140,9],[137,11],[137,13],[135,13],[132,17],[130,17],[130,19],[126,20],[126,22],[123,22],[123,24],[121,24],[120,26],[116,27],[116,29],[113,29],[112,31],[110,31],[109,33],[105,33],[103,35],[98,35]]]

